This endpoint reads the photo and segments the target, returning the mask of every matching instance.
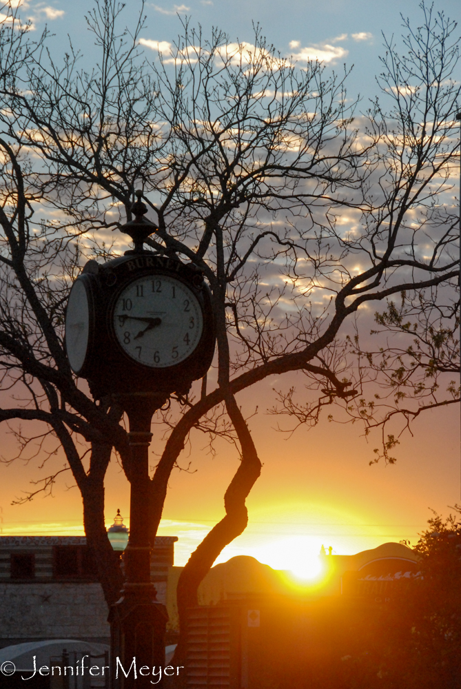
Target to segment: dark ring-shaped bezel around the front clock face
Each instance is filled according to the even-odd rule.
[[[177,280],[177,282],[181,282],[189,291],[192,292],[193,296],[196,298],[198,302],[198,307],[201,310],[201,318],[202,318],[202,332],[201,336],[196,342],[196,345],[194,349],[187,355],[185,359],[181,359],[181,361],[171,364],[170,366],[150,366],[149,364],[145,364],[142,361],[136,360],[134,357],[132,357],[121,345],[119,338],[116,334],[116,325],[115,325],[115,308],[116,304],[121,298],[121,295],[125,291],[125,289],[129,289],[130,286],[134,282],[138,282],[139,280],[142,280],[143,278],[146,277],[157,277],[157,276],[165,276],[167,278],[170,278],[172,280]],[[110,338],[113,342],[116,343],[116,347],[123,353],[123,356],[127,358],[128,361],[130,361],[131,364],[136,365],[137,367],[141,367],[143,371],[151,371],[154,374],[158,373],[165,373],[167,371],[177,371],[180,367],[183,367],[187,365],[187,362],[194,358],[196,356],[197,350],[203,345],[204,341],[204,336],[205,336],[205,331],[206,331],[206,313],[205,313],[205,307],[203,304],[203,297],[201,295],[201,289],[197,289],[196,285],[193,284],[192,281],[189,281],[187,279],[182,278],[178,274],[174,273],[171,270],[165,269],[165,268],[148,268],[148,269],[141,269],[139,271],[136,271],[136,274],[132,277],[131,280],[126,280],[123,282],[122,285],[120,285],[119,289],[117,289],[114,294],[112,295],[112,298],[110,300],[110,305],[108,309],[108,331],[110,333]]]

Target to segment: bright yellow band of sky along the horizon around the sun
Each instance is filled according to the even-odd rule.
[[[352,555],[376,548],[389,540],[398,541],[398,537],[382,537],[382,526],[367,524],[367,521],[369,522],[365,515],[359,515],[350,509],[312,501],[298,500],[253,507],[249,510],[247,529],[223,549],[214,564],[246,555],[274,570],[291,573],[294,586],[314,584],[323,576],[319,557],[322,546],[325,549],[331,546],[334,555]],[[112,522],[113,517],[108,518],[106,528]],[[129,517],[124,517],[124,524],[130,527]],[[204,524],[203,520],[164,519],[158,535],[178,537],[174,564],[183,566],[213,524],[211,520]],[[85,535],[79,520],[3,524],[1,533],[18,536]],[[407,533],[402,533],[402,537],[406,536]]]

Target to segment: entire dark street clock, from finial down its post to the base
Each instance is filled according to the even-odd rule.
[[[162,686],[167,611],[150,579],[150,428],[172,393],[187,394],[205,376],[216,342],[203,271],[166,249],[143,247],[157,227],[143,218],[142,192],[136,196],[134,220],[121,227],[134,248],[106,263],[88,261],[72,286],[65,318],[72,370],[88,380],[95,400],[120,404],[130,426],[125,584],[109,614],[112,689]]]

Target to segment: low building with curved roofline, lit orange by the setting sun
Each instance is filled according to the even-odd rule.
[[[305,587],[252,557],[216,565],[199,590],[205,605],[187,616],[187,689],[343,686],[318,681],[360,657],[393,582],[416,575],[418,558],[398,543],[320,558],[322,579]]]

